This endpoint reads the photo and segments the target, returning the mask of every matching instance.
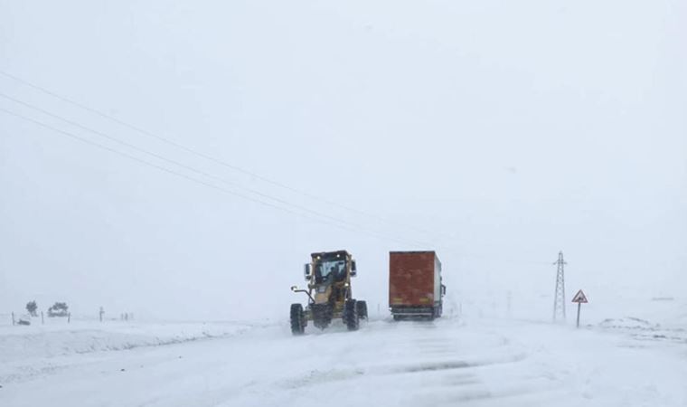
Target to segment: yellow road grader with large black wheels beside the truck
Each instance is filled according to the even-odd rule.
[[[351,278],[355,277],[355,260],[347,251],[325,251],[311,254],[304,267],[307,289],[291,287],[294,292],[307,295],[307,305],[291,304],[291,332],[303,335],[308,321],[325,329],[333,320],[341,318],[349,331],[360,327],[367,319],[365,301],[353,299]]]

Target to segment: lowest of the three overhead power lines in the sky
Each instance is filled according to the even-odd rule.
[[[225,193],[225,194],[231,194],[231,195],[237,196],[237,197],[239,197],[239,198],[241,198],[241,199],[244,199],[244,200],[247,200],[247,201],[250,201],[250,202],[253,202],[253,203],[262,204],[262,205],[269,206],[269,207],[271,207],[271,208],[278,209],[278,210],[281,210],[281,211],[284,211],[284,212],[287,212],[287,213],[295,214],[296,216],[303,216],[303,217],[306,217],[306,218],[308,218],[308,219],[315,220],[316,222],[323,222],[323,223],[325,223],[325,224],[329,224],[329,225],[332,225],[332,226],[334,226],[334,227],[337,227],[337,228],[340,228],[340,229],[343,229],[343,230],[346,230],[346,231],[349,231],[349,232],[361,232],[361,233],[368,234],[368,235],[370,235],[370,236],[376,237],[376,238],[378,238],[378,239],[386,239],[386,240],[389,240],[389,241],[396,241],[396,242],[403,243],[403,244],[408,244],[408,243],[409,243],[409,241],[404,241],[404,240],[402,240],[402,239],[395,238],[395,237],[392,237],[392,236],[388,236],[388,235],[385,235],[385,234],[381,234],[381,233],[379,233],[379,232],[372,232],[372,231],[369,231],[369,230],[364,230],[364,229],[361,229],[361,228],[359,228],[359,227],[357,227],[357,226],[355,226],[355,225],[346,225],[346,224],[340,224],[340,223],[325,222],[325,221],[322,220],[322,219],[313,218],[313,217],[311,217],[311,216],[307,216],[307,215],[304,214],[304,213],[297,213],[297,212],[292,211],[292,210],[290,210],[290,209],[288,209],[288,208],[285,208],[285,207],[283,207],[283,206],[278,206],[278,205],[276,205],[276,204],[270,204],[270,203],[268,203],[268,202],[259,200],[259,199],[257,199],[257,198],[253,198],[253,197],[250,197],[250,196],[247,196],[247,195],[244,195],[244,194],[239,194],[239,193],[237,193],[237,192],[235,192],[235,191],[231,191],[231,190],[229,190],[229,189],[222,188],[222,187],[217,186],[217,185],[212,185],[212,184],[210,184],[210,183],[204,182],[204,181],[199,180],[199,179],[197,179],[197,178],[193,178],[192,176],[184,175],[183,173],[180,173],[180,172],[174,171],[174,170],[172,170],[172,169],[166,168],[165,166],[158,166],[158,165],[155,165],[155,164],[153,164],[153,163],[150,163],[150,162],[148,162],[148,161],[146,161],[146,160],[143,160],[143,159],[141,159],[141,158],[138,158],[138,157],[136,157],[136,156],[132,156],[132,155],[129,155],[129,154],[127,154],[127,153],[121,152],[121,151],[119,151],[119,150],[117,150],[117,149],[115,149],[115,148],[108,147],[108,146],[104,146],[104,145],[101,145],[101,144],[99,144],[99,143],[93,142],[93,141],[89,140],[88,138],[79,137],[79,136],[77,136],[77,135],[75,135],[75,134],[73,134],[73,133],[70,133],[70,132],[68,132],[68,131],[64,131],[64,130],[61,130],[61,129],[59,129],[59,128],[54,128],[54,127],[52,127],[52,126],[50,126],[50,125],[47,125],[47,124],[45,124],[45,123],[42,123],[42,122],[39,121],[39,120],[35,120],[35,119],[33,119],[33,118],[25,117],[25,116],[23,116],[23,115],[20,115],[20,114],[18,114],[18,113],[15,113],[15,112],[13,112],[13,111],[11,111],[11,110],[7,110],[7,109],[0,108],[0,111],[4,112],[5,114],[14,116],[15,118],[21,118],[21,119],[23,119],[23,120],[25,120],[25,121],[31,122],[31,123],[33,123],[33,124],[35,124],[35,125],[37,125],[37,126],[42,127],[42,128],[50,129],[50,130],[52,130],[52,131],[54,131],[54,132],[56,132],[56,133],[59,133],[59,134],[61,134],[61,135],[63,135],[63,136],[71,137],[71,138],[73,138],[73,139],[79,140],[79,141],[81,141],[81,142],[83,142],[83,143],[89,144],[90,146],[94,146],[94,147],[98,147],[98,148],[107,150],[107,151],[109,151],[109,152],[111,152],[111,153],[115,153],[115,154],[117,154],[117,155],[119,155],[119,156],[125,156],[125,157],[127,157],[128,159],[131,159],[131,160],[133,160],[133,161],[136,161],[136,162],[139,163],[139,164],[143,164],[143,165],[145,165],[145,166],[152,166],[152,167],[154,167],[154,168],[156,168],[156,169],[158,169],[158,170],[165,171],[166,173],[169,173],[169,174],[172,174],[172,175],[179,176],[179,177],[181,177],[181,178],[184,178],[184,179],[186,179],[186,180],[188,180],[188,181],[192,181],[193,183],[196,183],[196,184],[199,184],[199,185],[204,185],[204,186],[210,187],[210,188],[212,188],[212,189],[221,191],[221,192],[223,192],[223,193]],[[417,243],[417,242],[413,242],[413,244],[418,244],[418,243]]]

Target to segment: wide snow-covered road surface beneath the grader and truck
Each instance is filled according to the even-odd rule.
[[[308,329],[14,358],[0,406],[687,406],[683,333],[457,319]]]

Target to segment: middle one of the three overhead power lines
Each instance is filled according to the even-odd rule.
[[[318,211],[312,210],[312,209],[307,208],[307,207],[305,207],[305,206],[298,205],[298,204],[292,204],[292,203],[290,203],[290,202],[288,202],[288,201],[286,201],[286,200],[283,200],[283,199],[281,199],[281,198],[278,198],[278,197],[275,197],[275,196],[272,196],[272,195],[269,195],[269,194],[261,193],[261,192],[259,192],[258,190],[255,190],[255,189],[252,189],[252,188],[248,188],[248,187],[245,187],[245,186],[241,186],[241,185],[237,185],[237,184],[235,184],[235,183],[231,183],[230,181],[227,181],[226,179],[221,178],[220,176],[212,175],[212,174],[207,173],[207,172],[205,172],[205,171],[196,169],[196,168],[194,168],[193,166],[187,166],[187,165],[185,165],[184,163],[181,163],[181,162],[179,162],[179,161],[176,161],[176,160],[167,158],[167,157],[165,157],[165,156],[161,156],[161,155],[159,155],[159,154],[156,154],[156,153],[154,153],[154,152],[151,152],[151,151],[149,151],[149,150],[146,150],[145,148],[137,147],[136,145],[133,145],[133,144],[131,144],[131,143],[127,143],[126,141],[122,141],[122,140],[118,139],[117,137],[113,137],[113,136],[110,136],[110,135],[108,135],[108,134],[106,134],[106,133],[100,132],[99,130],[95,130],[95,129],[93,129],[93,128],[88,128],[88,127],[86,127],[86,126],[83,126],[83,125],[81,125],[80,123],[78,123],[78,122],[76,122],[76,121],[70,120],[69,118],[63,118],[63,117],[61,117],[60,115],[56,115],[56,114],[54,114],[54,113],[52,113],[52,112],[50,112],[50,111],[48,111],[48,110],[41,109],[41,108],[39,108],[39,107],[37,107],[37,106],[34,106],[34,105],[30,104],[30,103],[26,103],[26,102],[24,102],[23,100],[15,99],[15,98],[13,98],[13,97],[11,97],[11,96],[6,95],[5,93],[0,92],[0,97],[3,97],[3,98],[8,99],[8,100],[12,100],[12,101],[14,101],[14,103],[20,104],[20,105],[22,105],[22,106],[24,106],[24,107],[27,107],[27,108],[29,108],[29,109],[34,109],[34,110],[36,110],[36,111],[41,112],[41,113],[44,114],[44,115],[47,115],[47,116],[52,117],[52,118],[58,118],[58,119],[64,121],[65,123],[70,124],[71,126],[74,126],[74,127],[81,128],[81,129],[83,129],[83,130],[89,131],[90,133],[96,134],[96,135],[98,135],[98,136],[100,136],[100,137],[108,138],[108,140],[114,141],[115,143],[118,143],[119,145],[122,145],[122,146],[125,146],[125,147],[132,148],[132,149],[134,149],[134,150],[136,150],[136,151],[138,151],[138,152],[140,152],[140,153],[143,153],[143,154],[146,154],[146,155],[149,155],[149,156],[154,156],[155,158],[157,158],[157,159],[159,159],[159,160],[162,160],[162,161],[165,161],[165,162],[167,162],[167,163],[173,164],[174,166],[180,166],[180,167],[182,167],[182,168],[184,168],[184,169],[186,169],[186,170],[192,171],[192,172],[195,173],[195,174],[202,175],[202,176],[207,176],[207,177],[209,177],[209,178],[212,178],[212,179],[214,179],[214,180],[216,180],[216,181],[221,182],[222,184],[231,185],[232,187],[235,187],[235,188],[240,188],[240,189],[242,189],[242,190],[244,190],[244,191],[248,191],[250,194],[259,195],[259,196],[261,196],[261,197],[263,197],[263,198],[267,198],[267,199],[269,199],[269,200],[278,202],[279,204],[284,204],[284,205],[287,205],[287,206],[291,206],[291,207],[293,207],[293,208],[296,208],[296,209],[298,209],[298,210],[304,211],[304,212],[306,212],[306,213],[311,213],[311,214],[314,214],[315,216],[319,216],[319,217],[322,217],[322,218],[325,218],[325,219],[328,219],[328,220],[331,220],[331,221],[334,221],[334,222],[340,222],[340,223],[345,224],[345,225],[347,225],[347,226],[349,226],[349,227],[360,228],[360,229],[363,228],[363,226],[360,225],[360,224],[357,224],[357,223],[354,223],[354,222],[347,222],[347,221],[344,221],[344,220],[342,220],[342,219],[336,218],[336,217],[334,217],[334,216],[328,215],[328,214],[326,214],[326,213],[320,213],[320,212],[318,212]],[[368,228],[368,229],[369,229],[369,228]],[[419,246],[427,245],[427,243],[422,243],[422,242],[419,242],[419,241],[411,241],[411,240],[408,240],[408,242],[412,242],[413,244],[419,245]]]

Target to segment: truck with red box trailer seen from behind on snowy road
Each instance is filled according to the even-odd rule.
[[[434,251],[389,253],[389,308],[395,320],[441,317],[446,286]]]

